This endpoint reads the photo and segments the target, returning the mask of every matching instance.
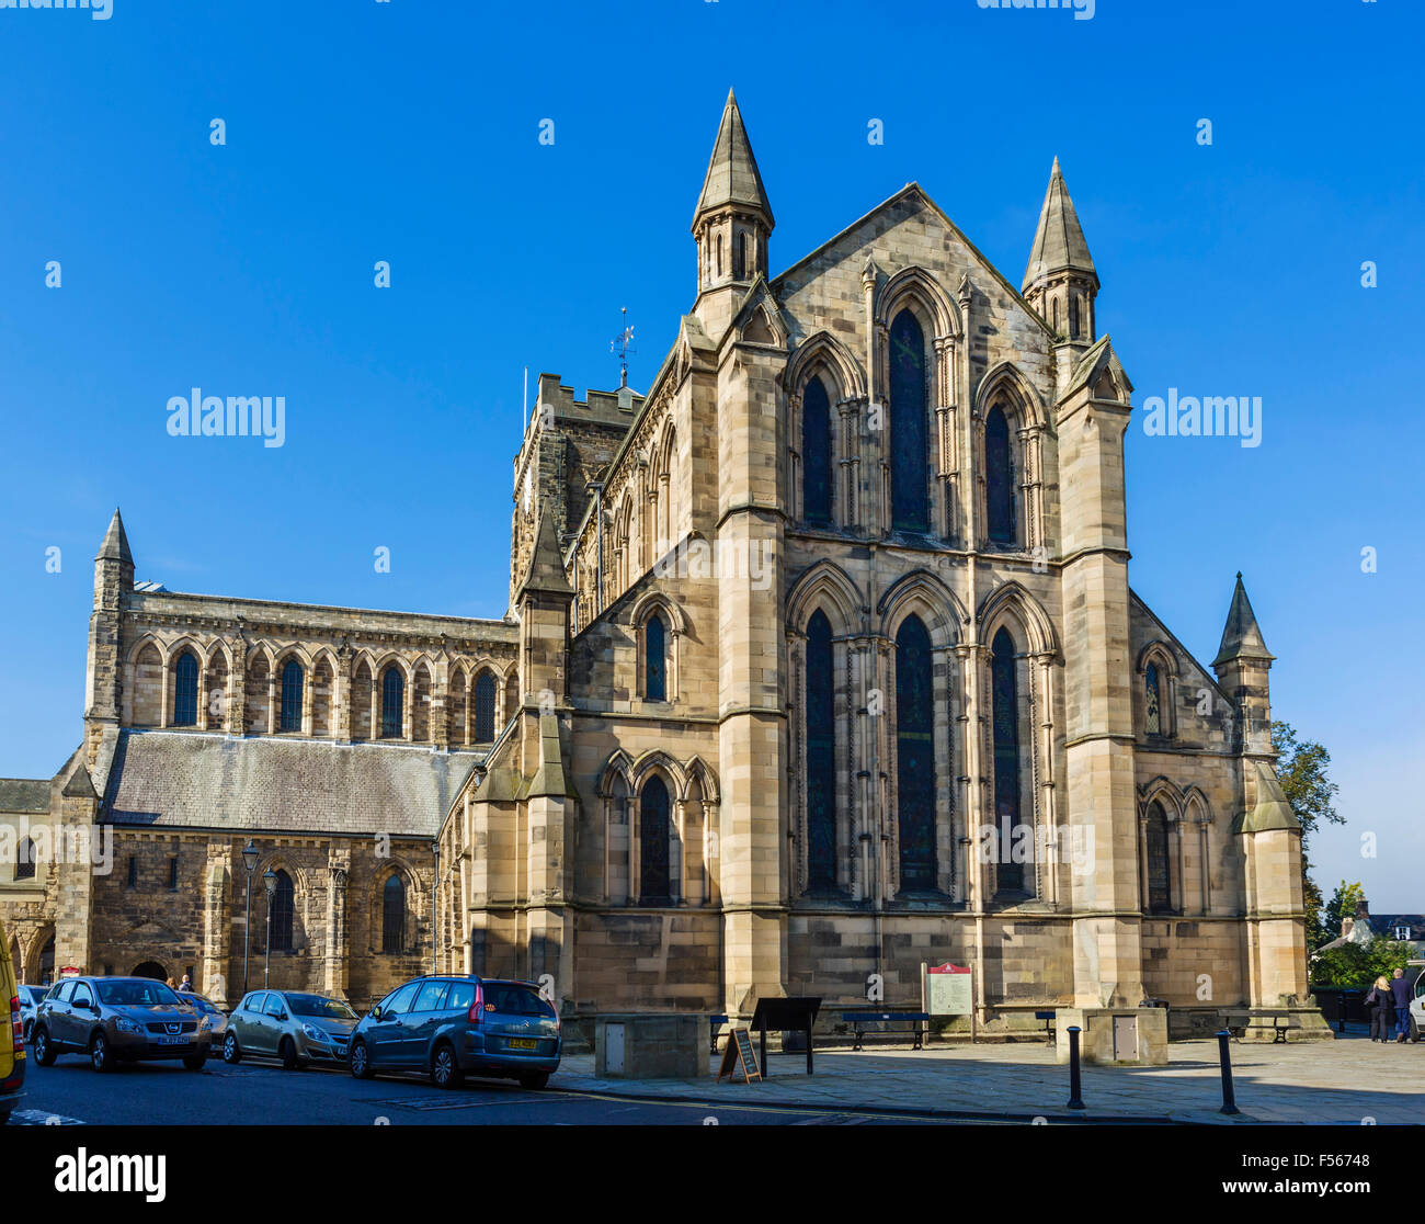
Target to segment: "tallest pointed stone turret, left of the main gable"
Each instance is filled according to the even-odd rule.
[[[728,90],[693,214],[698,247],[698,298],[693,312],[712,340],[727,331],[748,285],[758,277],[767,278],[767,244],[774,225],[742,113]]]

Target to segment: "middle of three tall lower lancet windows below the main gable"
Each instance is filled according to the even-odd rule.
[[[901,892],[935,889],[935,693],[931,635],[908,616],[895,638]]]

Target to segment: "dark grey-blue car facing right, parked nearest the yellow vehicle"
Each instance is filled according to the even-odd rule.
[[[182,1059],[202,1070],[212,1039],[201,1016],[151,977],[67,977],[34,1017],[34,1061],[86,1054],[95,1071],[141,1059]]]

